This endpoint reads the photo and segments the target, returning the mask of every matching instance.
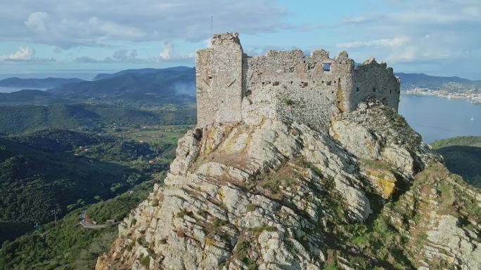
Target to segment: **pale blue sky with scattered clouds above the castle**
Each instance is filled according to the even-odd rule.
[[[249,55],[347,50],[395,72],[481,79],[480,0],[4,0],[0,74],[193,66],[214,32]]]

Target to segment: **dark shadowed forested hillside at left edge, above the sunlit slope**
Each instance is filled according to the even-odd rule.
[[[31,229],[96,198],[110,198],[141,181],[135,168],[69,154],[52,154],[0,139],[0,241],[11,224]],[[20,231],[19,231],[20,232]]]

